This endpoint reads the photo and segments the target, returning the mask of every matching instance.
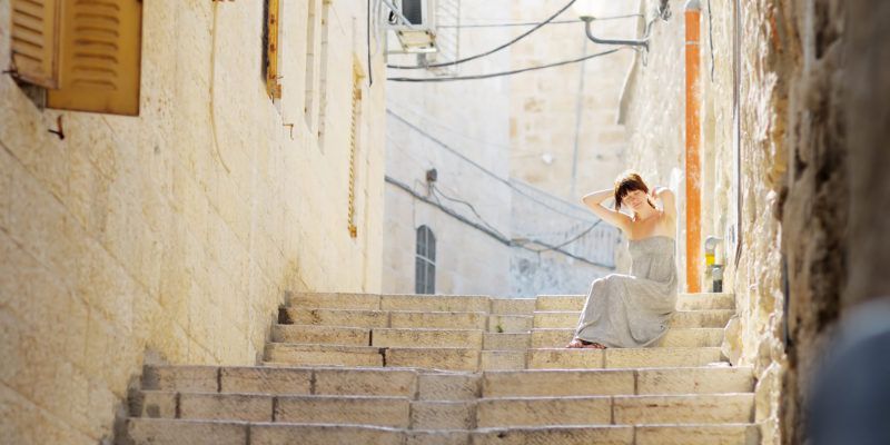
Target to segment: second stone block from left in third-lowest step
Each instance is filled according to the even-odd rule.
[[[222,367],[220,393],[309,394],[312,369],[271,367]]]

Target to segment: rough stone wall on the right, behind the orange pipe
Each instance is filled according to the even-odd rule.
[[[627,162],[659,182],[685,161],[685,3],[670,1],[673,18],[655,27],[622,103]],[[887,251],[879,209],[890,196],[879,174],[889,60],[880,23],[890,8],[690,3],[702,10],[702,229],[723,238],[718,263],[739,308],[723,349],[755,368],[763,443],[803,443],[812,377],[837,320],[887,289],[877,265]]]

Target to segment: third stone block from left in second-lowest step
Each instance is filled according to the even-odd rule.
[[[284,396],[275,421],[285,423],[354,424],[406,428],[411,402],[405,397]]]

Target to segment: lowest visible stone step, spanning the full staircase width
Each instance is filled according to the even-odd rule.
[[[126,441],[134,445],[754,445],[756,425],[636,425],[405,431],[358,425],[195,422],[128,418]],[[249,439],[248,439],[249,437]]]

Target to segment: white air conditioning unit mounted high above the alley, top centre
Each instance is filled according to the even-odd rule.
[[[393,0],[388,29],[395,31],[402,51],[436,52],[436,0]],[[407,21],[407,22],[406,22]]]

